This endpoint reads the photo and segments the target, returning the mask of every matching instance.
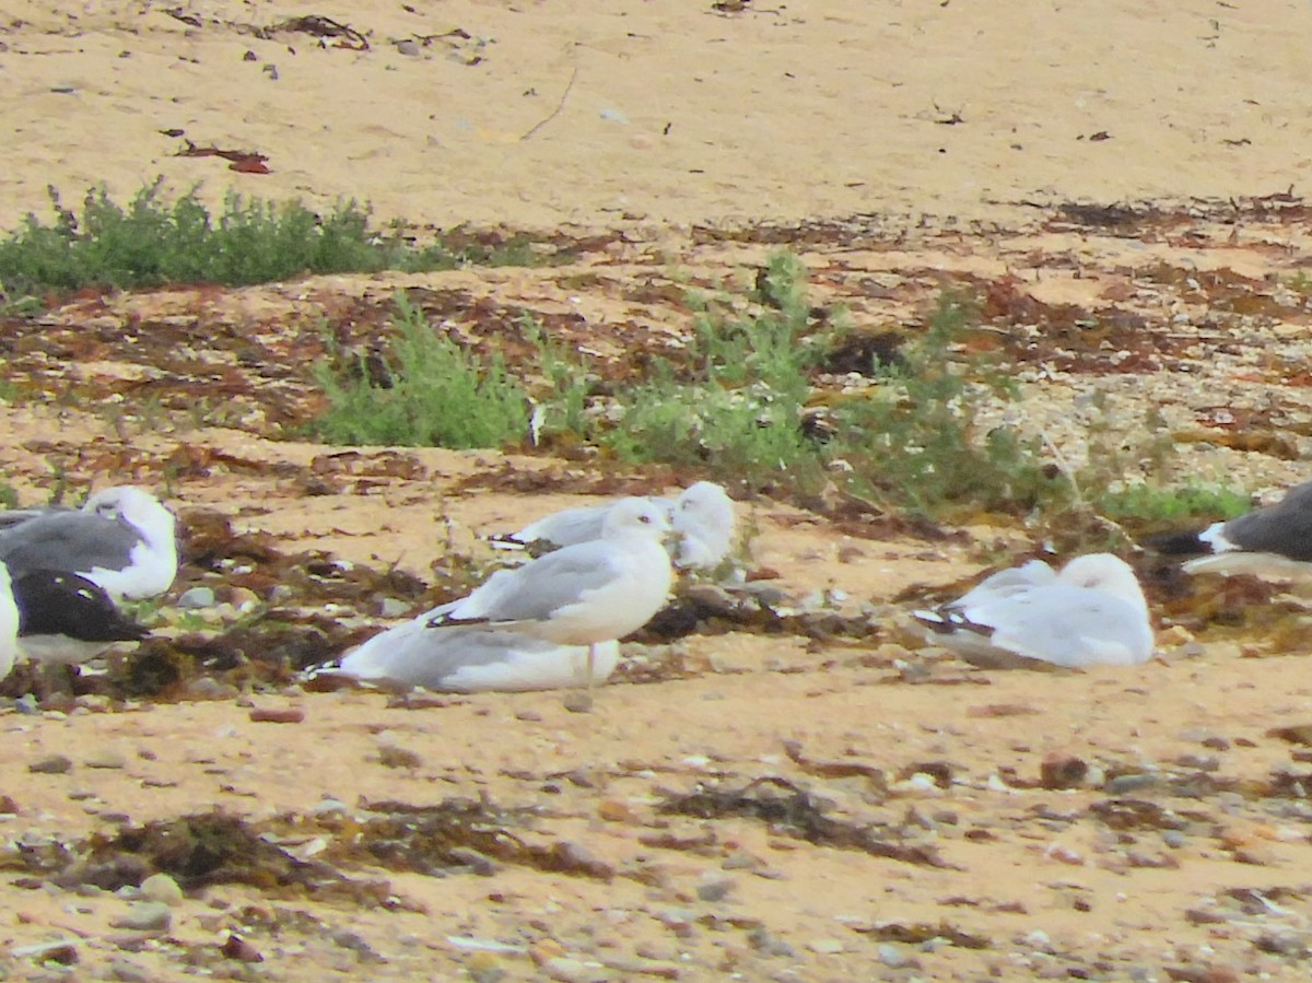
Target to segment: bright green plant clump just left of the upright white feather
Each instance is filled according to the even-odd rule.
[[[342,375],[328,365],[315,378],[328,411],[314,424],[331,444],[453,449],[500,448],[529,432],[529,399],[500,356],[487,364],[438,333],[404,297],[387,378],[371,381],[363,356]]]

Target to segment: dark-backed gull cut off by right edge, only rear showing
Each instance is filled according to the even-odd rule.
[[[1155,535],[1157,553],[1193,555],[1187,574],[1312,575],[1312,482],[1290,488],[1274,505],[1254,509],[1203,530]]]

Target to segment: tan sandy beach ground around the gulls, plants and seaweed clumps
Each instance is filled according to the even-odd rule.
[[[199,184],[210,199],[228,189],[356,197],[417,226],[623,230],[558,270],[157,291],[5,323],[7,377],[49,394],[0,407],[7,480],[33,500],[56,467],[73,484],[136,480],[177,505],[218,508],[289,553],[321,549],[424,577],[449,550],[482,556],[476,532],[584,500],[505,482],[471,490],[471,475],[509,461],[512,474],[550,472],[548,486],[600,478],[580,462],[440,450],[329,459],[323,448],[265,440],[277,402],[299,399],[278,395],[285,379],[269,365],[306,357],[299,345],[319,314],[346,323],[400,286],[422,286],[463,298],[451,316],[474,335],[488,329],[475,303],[487,302],[623,350],[626,332],[686,328],[686,311],[659,299],[681,282],[676,270],[743,281],[768,248],[750,230],[736,241],[697,227],[858,214],[869,218],[846,226],[858,236],[836,224],[783,244],[863,325],[922,312],[958,281],[1145,316],[1134,356],[1145,364],[1093,345],[1065,362],[1059,346],[1030,366],[1026,413],[1064,446],[1080,400],[1102,392],[1128,407],[1117,417],[1126,430],[1148,404],[1185,434],[1218,407],[1241,407],[1305,454],[1305,301],[1262,307],[1275,315],[1252,336],[1208,320],[1235,277],[1246,295],[1279,293],[1307,255],[1305,210],[1208,206],[1147,232],[1054,218],[1069,201],[1165,207],[1300,192],[1312,169],[1312,7],[716,9],[735,7],[5,3],[4,227],[43,209],[50,184],[66,199],[101,181],[121,197],[163,176],[172,189]],[[367,50],[354,37],[264,30],[307,14],[349,25]],[[176,156],[185,140],[266,155],[270,173]],[[160,337],[176,329],[173,348],[138,345],[143,324]],[[211,339],[258,349],[197,357],[228,373],[234,428],[213,425],[214,407],[190,421],[184,409],[193,356],[177,352],[203,352]],[[71,357],[81,366],[64,367]],[[125,379],[154,382],[117,403]],[[1185,470],[1250,487],[1305,476],[1290,455],[1211,444],[1185,453]],[[311,478],[329,487],[311,492]],[[1189,633],[1164,630],[1164,656],[1131,671],[979,673],[930,659],[921,675],[926,654],[904,647],[914,642],[891,598],[976,572],[1023,543],[1023,529],[926,542],[854,534],[764,499],[744,508],[758,526],[756,566],[777,570],[796,596],[837,588],[846,613],[875,605],[884,634],[694,634],[664,656],[630,647],[681,660],[686,679],[617,684],[586,715],[550,693],[412,709],[380,694],[299,692],[0,713],[0,975],[1307,978],[1305,755],[1269,732],[1312,719],[1305,647],[1190,644]],[[252,702],[297,707],[300,719],[253,721]],[[70,770],[29,770],[52,755]],[[749,785],[757,778],[778,781]],[[743,791],[749,815],[661,811],[703,786]],[[803,793],[837,826],[807,827]],[[537,810],[517,833],[560,847],[563,869],[506,860],[474,864],[488,877],[429,877],[357,861],[344,869],[386,878],[387,903],[218,886],[151,931],[115,924],[125,898],[20,875],[24,856],[50,841],[214,806],[261,823],[291,814],[300,826],[268,835],[300,857],[337,856],[352,823],[370,815],[365,801],[449,797]],[[794,822],[781,822],[781,801]],[[866,839],[844,841],[842,824]],[[228,958],[243,954],[220,949],[232,933],[262,962]],[[72,969],[24,949],[50,940],[71,942]]]

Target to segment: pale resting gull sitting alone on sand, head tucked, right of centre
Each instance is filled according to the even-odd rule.
[[[934,642],[987,668],[1138,665],[1153,650],[1143,588],[1109,553],[1077,556],[1060,574],[1031,560],[913,617]]]

